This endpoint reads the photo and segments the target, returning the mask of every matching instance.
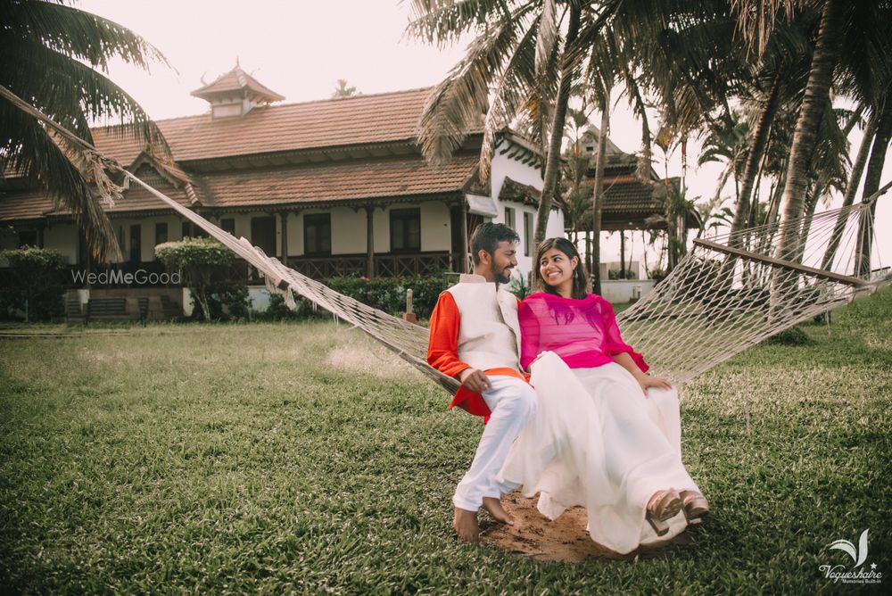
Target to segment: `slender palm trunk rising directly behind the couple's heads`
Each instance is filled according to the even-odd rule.
[[[573,63],[570,61],[570,46],[579,34],[579,21],[582,6],[578,2],[570,5],[570,21],[566,32],[566,43],[561,64],[558,97],[555,99],[554,119],[551,121],[549,154],[545,161],[545,174],[542,183],[542,196],[539,211],[536,212],[535,244],[545,239],[545,228],[549,223],[551,203],[558,187],[558,170],[560,170],[560,145],[564,140],[564,124],[566,122],[566,106],[570,101],[570,84],[573,79]],[[541,98],[540,98],[541,99]]]

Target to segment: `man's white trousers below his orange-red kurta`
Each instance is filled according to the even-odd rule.
[[[483,497],[498,499],[518,486],[498,483],[496,476],[508,458],[511,443],[536,411],[536,392],[528,383],[502,375],[489,378],[491,388],[483,392],[483,400],[492,412],[490,420],[483,428],[471,468],[452,497],[453,505],[468,511],[480,509]]]

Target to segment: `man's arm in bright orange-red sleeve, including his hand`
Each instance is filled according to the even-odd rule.
[[[427,342],[427,363],[442,374],[457,378],[466,389],[480,393],[490,386],[482,370],[458,360],[458,328],[461,314],[452,294],[443,292],[431,313],[431,331]]]

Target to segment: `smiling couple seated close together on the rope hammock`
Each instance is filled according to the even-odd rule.
[[[624,344],[610,303],[586,293],[575,246],[540,244],[536,294],[502,286],[520,238],[484,223],[470,239],[474,274],[440,295],[427,360],[461,382],[452,406],[486,417],[452,497],[458,538],[479,540],[483,506],[513,525],[500,497],[540,493],[550,519],[586,508],[591,539],[618,553],[668,540],[708,505],[681,463],[677,394]],[[530,374],[527,374],[527,371]]]

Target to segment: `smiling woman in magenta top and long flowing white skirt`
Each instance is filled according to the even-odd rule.
[[[681,463],[677,395],[623,342],[610,303],[586,292],[572,243],[545,240],[537,262],[540,292],[519,318],[539,414],[501,476],[526,496],[541,493],[539,510],[551,519],[583,505],[592,540],[616,552],[672,538],[708,511]]]

